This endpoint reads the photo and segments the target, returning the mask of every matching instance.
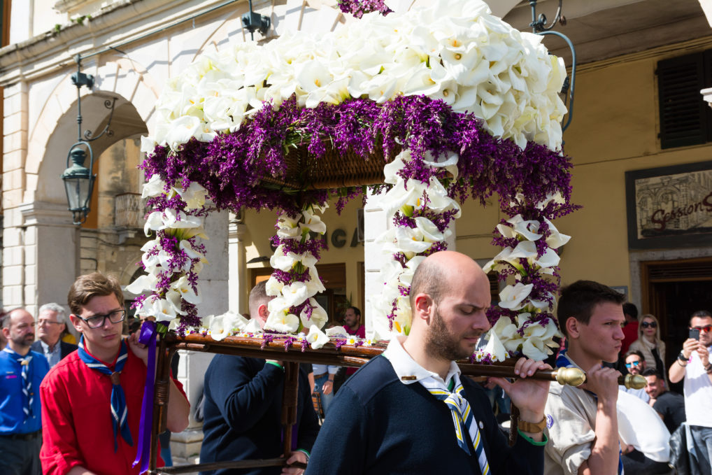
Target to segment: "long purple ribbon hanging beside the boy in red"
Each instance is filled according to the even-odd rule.
[[[143,388],[143,402],[141,404],[141,422],[138,426],[138,447],[136,459],[132,466],[141,462],[141,471],[148,470],[151,458],[151,432],[153,429],[153,391],[156,382],[156,323],[145,320],[141,325],[139,343],[148,346],[148,363],[146,367],[146,384]]]

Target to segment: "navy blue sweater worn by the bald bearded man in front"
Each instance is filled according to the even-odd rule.
[[[483,424],[491,474],[542,474],[544,447],[523,437],[509,447],[485,392],[466,377],[462,385],[475,419]],[[350,377],[331,404],[307,475],[481,473],[474,450],[468,455],[457,444],[446,404],[420,383],[400,382],[383,356]]]

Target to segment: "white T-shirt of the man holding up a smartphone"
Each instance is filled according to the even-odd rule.
[[[687,424],[712,427],[712,382],[696,351],[687,360],[684,386]]]

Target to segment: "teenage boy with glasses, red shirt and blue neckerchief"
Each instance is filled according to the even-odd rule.
[[[122,338],[121,286],[101,273],[71,286],[69,318],[81,333],[79,349],[61,360],[40,386],[45,475],[139,474],[137,451],[148,350],[134,333]],[[167,427],[182,432],[189,405],[173,380]],[[162,463],[159,461],[159,465]]]

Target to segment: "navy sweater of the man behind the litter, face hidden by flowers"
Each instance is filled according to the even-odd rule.
[[[201,463],[271,459],[282,454],[284,370],[265,360],[215,355],[205,373]],[[306,372],[299,372],[296,447],[310,451],[319,432]],[[280,467],[204,474],[279,474]]]

